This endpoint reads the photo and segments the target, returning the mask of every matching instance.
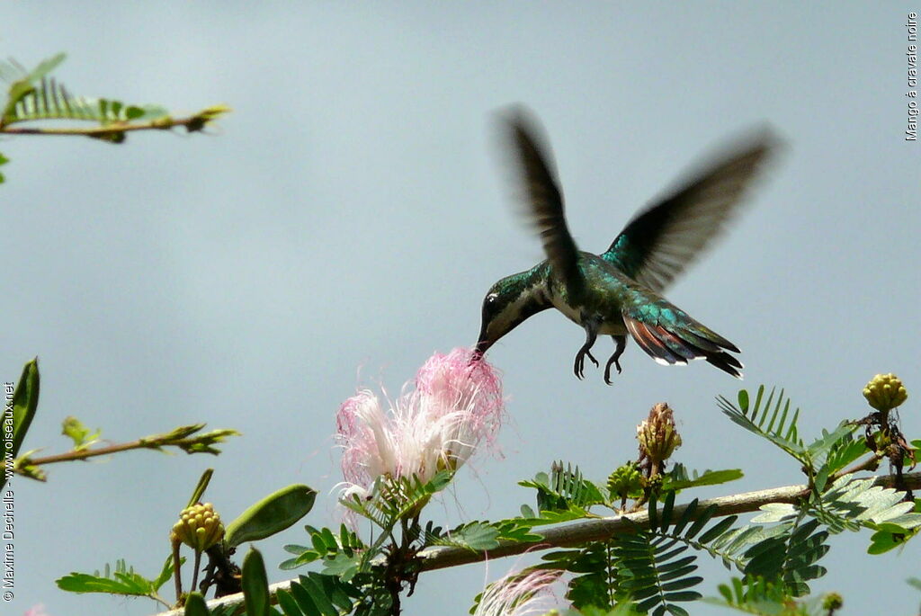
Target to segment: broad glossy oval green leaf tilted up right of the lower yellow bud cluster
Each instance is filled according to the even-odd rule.
[[[287,529],[309,513],[316,497],[316,490],[299,483],[269,494],[227,525],[225,544],[232,548]]]

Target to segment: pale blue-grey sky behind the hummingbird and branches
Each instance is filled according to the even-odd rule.
[[[75,93],[234,109],[204,136],[0,142],[12,159],[0,188],[0,375],[41,358],[25,447],[65,447],[68,414],[115,441],[198,421],[245,434],[217,459],[137,452],[51,468],[43,485],[17,479],[10,613],[39,602],[52,616],[154,611],[66,594],[53,579],[118,558],[153,572],[208,466],[207,499],[224,517],[307,482],[321,497],[306,521],[337,523],[339,403],[360,382],[398,389],[432,352],[472,344],[489,286],[542,259],[507,203],[488,131],[490,113],[517,101],[542,118],[585,250],[604,250],[710,147],[771,122],[787,156],[667,295],[740,346],[745,387],[787,388],[803,435],[864,414],[864,383],[894,371],[912,396],[904,429],[918,436],[910,8],[6,3],[3,55],[31,65],[68,52],[57,75]],[[658,401],[676,410],[678,460],[746,471],[705,495],[800,482],[795,462],[718,412],[714,397],[738,381],[701,363],[658,366],[631,344],[613,387],[593,368],[579,382],[582,341],[547,312],[490,351],[512,418],[505,458],[461,472],[428,510],[438,522],[515,515],[532,502],[515,482],[554,459],[601,480],[635,456],[635,424]],[[610,341],[600,345],[606,355]],[[262,542],[267,563],[303,540],[291,529]],[[870,559],[868,542],[835,537],[814,589],[843,592],[844,614],[915,613],[921,595],[903,580],[921,543]],[[700,590],[715,595],[729,574],[700,563]],[[448,613],[447,596],[463,614],[484,575],[424,575],[405,613]]]

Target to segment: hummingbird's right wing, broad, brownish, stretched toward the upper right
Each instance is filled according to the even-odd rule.
[[[601,258],[654,291],[693,263],[740,212],[779,141],[763,127],[725,147],[678,190],[636,215]]]

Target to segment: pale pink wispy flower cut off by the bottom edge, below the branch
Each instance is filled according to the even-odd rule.
[[[562,574],[555,569],[532,569],[500,577],[483,591],[473,616],[542,614],[554,599],[550,587]]]

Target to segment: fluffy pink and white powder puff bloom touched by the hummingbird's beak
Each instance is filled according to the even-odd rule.
[[[456,471],[481,444],[495,446],[505,407],[502,383],[470,349],[434,354],[387,411],[370,390],[359,390],[336,414],[343,447],[341,497],[369,496],[379,477],[430,481]]]

